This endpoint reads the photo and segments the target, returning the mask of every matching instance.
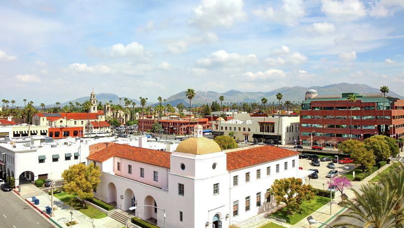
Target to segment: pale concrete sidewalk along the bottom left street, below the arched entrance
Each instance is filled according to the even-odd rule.
[[[27,194],[24,194],[26,197]],[[39,210],[46,211],[45,207],[50,207],[50,196],[44,192],[38,193],[36,192],[36,199],[39,199],[39,205],[35,205]],[[31,197],[26,197],[25,199],[31,202]],[[31,202],[32,204],[32,202]],[[70,206],[64,204],[62,201],[53,197],[53,207],[54,216],[51,217],[52,220],[56,221],[61,227],[69,228],[66,226],[66,223],[71,221],[71,209]],[[76,221],[78,224],[74,225],[74,228],[122,228],[125,225],[115,221],[110,217],[105,217],[102,219],[90,219],[83,213],[76,211],[73,209],[73,221]]]

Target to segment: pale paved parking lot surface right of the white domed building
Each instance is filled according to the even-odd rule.
[[[333,156],[329,156],[331,159],[334,159]],[[342,159],[343,157],[340,157],[340,159]],[[327,190],[328,188],[328,184],[327,181],[330,181],[330,178],[327,178],[327,173],[331,170],[330,168],[327,167],[327,164],[330,161],[320,161],[320,166],[313,166],[311,164],[311,160],[307,159],[307,158],[302,158],[299,159],[299,166],[302,167],[304,170],[308,170],[308,169],[318,169],[318,179],[310,179],[308,177],[305,178],[305,182],[306,184],[310,184],[314,187],[314,188],[318,188],[318,189],[324,189]],[[341,176],[353,169],[355,169],[356,165],[355,164],[346,164],[346,165],[342,165],[342,164],[337,164],[334,163],[335,165],[335,169],[338,170],[338,175]],[[324,184],[324,185],[323,185]]]

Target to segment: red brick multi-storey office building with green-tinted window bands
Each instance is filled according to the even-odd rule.
[[[355,95],[357,101],[348,101]],[[372,135],[404,136],[404,101],[383,94],[343,93],[314,96],[302,103],[300,137],[303,144],[336,146],[347,139]]]

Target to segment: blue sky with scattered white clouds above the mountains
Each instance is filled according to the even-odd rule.
[[[361,83],[404,95],[404,0],[0,0],[1,99]]]

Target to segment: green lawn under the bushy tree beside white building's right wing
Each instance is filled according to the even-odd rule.
[[[272,213],[271,215],[286,220],[286,222],[290,225],[294,225],[311,213],[317,211],[317,209],[326,205],[328,202],[330,202],[329,198],[316,196],[310,202],[303,202],[300,207],[302,209],[301,213],[294,212],[293,215],[289,215],[287,213],[287,207],[285,207],[278,210],[277,212]]]

